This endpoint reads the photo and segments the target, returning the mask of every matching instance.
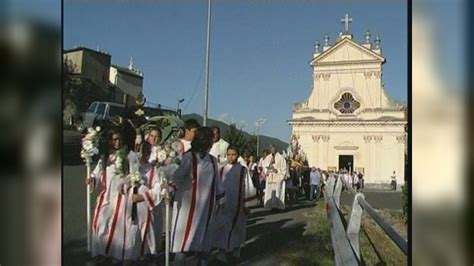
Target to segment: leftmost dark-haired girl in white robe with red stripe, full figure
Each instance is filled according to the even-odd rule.
[[[118,131],[107,132],[107,148],[88,182],[100,190],[92,218],[92,255],[124,259],[127,158]]]

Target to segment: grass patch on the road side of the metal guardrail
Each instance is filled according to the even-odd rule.
[[[302,241],[290,243],[280,255],[280,265],[334,265],[331,232],[323,201],[309,209]]]

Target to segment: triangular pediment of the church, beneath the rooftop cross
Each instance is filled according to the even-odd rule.
[[[331,63],[356,63],[356,62],[380,62],[384,63],[385,58],[376,52],[344,38],[334,46],[321,53],[311,60],[311,65],[331,64]]]

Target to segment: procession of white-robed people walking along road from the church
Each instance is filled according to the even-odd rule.
[[[189,119],[176,132],[170,142],[157,126],[106,131],[106,145],[86,178],[99,193],[90,223],[90,252],[99,264],[156,261],[166,230],[173,265],[206,265],[214,250],[217,263],[237,262],[250,203],[278,212],[301,197],[322,196],[328,173],[292,165],[275,145],[254,160],[224,140],[219,127]],[[360,174],[353,177],[356,182],[341,172],[360,188]],[[171,208],[169,220],[164,206]]]

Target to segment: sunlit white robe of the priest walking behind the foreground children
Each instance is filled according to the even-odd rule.
[[[285,209],[285,176],[286,161],[279,153],[275,153],[275,162],[272,162],[272,154],[267,155],[263,161],[263,171],[266,175],[264,208]],[[273,166],[277,170],[275,173],[269,167]]]

